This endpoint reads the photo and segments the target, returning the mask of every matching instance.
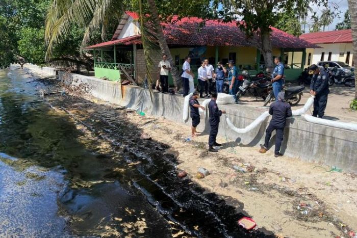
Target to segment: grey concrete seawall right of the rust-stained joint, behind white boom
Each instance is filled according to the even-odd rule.
[[[184,97],[181,95],[154,93],[151,102],[148,90],[134,86],[123,86],[122,95],[120,104],[124,107],[184,123],[182,119]],[[226,116],[238,128],[247,126],[267,110],[232,104],[220,105],[220,109],[226,110]],[[264,141],[269,119],[247,134],[237,134],[227,126],[223,116],[219,125],[219,135],[236,142],[237,146],[259,146]],[[190,123],[190,120],[186,122],[187,125]],[[205,120],[201,120],[198,129],[209,131],[207,116]],[[270,144],[274,147],[274,136]],[[239,147],[237,150],[239,151]],[[346,172],[357,172],[357,133],[354,131],[313,124],[300,117],[290,118],[284,131],[282,152],[304,161],[337,166]]]

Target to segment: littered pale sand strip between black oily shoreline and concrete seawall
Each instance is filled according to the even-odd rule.
[[[228,203],[230,198],[240,201],[240,208],[259,227],[272,230],[280,237],[349,237],[348,231],[357,230],[354,174],[327,172],[330,168],[298,158],[275,158],[271,151],[260,154],[257,148],[231,147],[223,138],[217,140],[223,144],[219,153],[208,153],[208,135],[187,141],[189,126],[164,118],[146,123],[155,117],[136,113],[129,119],[152,139],[171,145],[182,162],[179,169],[185,170],[200,186],[220,194]],[[240,173],[233,165],[255,168]],[[199,167],[211,174],[197,179]],[[308,215],[302,214],[304,203],[310,205]]]

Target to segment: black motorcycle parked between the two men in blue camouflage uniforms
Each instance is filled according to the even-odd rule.
[[[248,71],[243,70],[242,72],[244,81],[242,86],[239,87],[239,90],[236,94],[236,102],[239,98],[245,95],[247,92],[250,95],[261,97],[263,100],[267,98],[269,95],[269,90],[272,89],[271,83],[267,78],[263,75],[260,77],[250,77]]]

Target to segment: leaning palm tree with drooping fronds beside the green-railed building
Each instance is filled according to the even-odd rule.
[[[147,18],[147,15],[142,10],[142,0],[138,0],[141,37],[146,59],[148,83],[151,84],[152,82],[150,74],[150,65],[152,65],[152,62],[150,61],[150,52],[154,46],[152,38],[150,38],[149,35],[156,35],[155,39],[158,40],[161,51],[163,54],[167,55],[167,58],[172,65],[172,77],[175,86],[180,87],[179,71],[175,67],[171,52],[166,43],[155,2],[148,2],[150,5],[150,18],[154,19],[154,33],[147,29],[147,25],[149,24],[148,20],[142,20],[143,18]],[[103,33],[110,21],[113,18],[120,18],[124,13],[125,8],[132,5],[133,3],[130,0],[54,0],[46,17],[45,40],[48,45],[46,59],[49,59],[52,56],[53,47],[60,42],[64,36],[69,35],[73,23],[86,26],[86,33],[83,38],[83,45],[85,45],[90,38],[90,33],[94,29],[101,28],[103,37]]]

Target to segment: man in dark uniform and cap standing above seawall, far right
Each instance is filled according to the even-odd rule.
[[[310,84],[310,93],[315,96],[313,116],[322,118],[327,105],[328,74],[323,68],[313,64],[309,67],[309,73],[314,74]]]

